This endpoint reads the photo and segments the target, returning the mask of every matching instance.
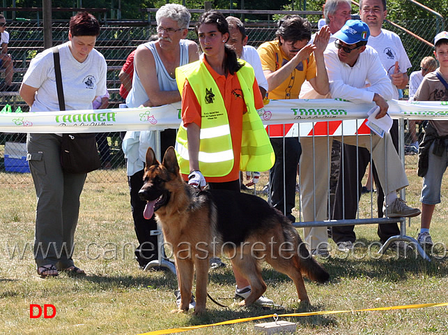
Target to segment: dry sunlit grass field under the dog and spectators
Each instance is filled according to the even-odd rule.
[[[419,206],[422,180],[415,168],[408,169],[407,200]],[[95,172],[93,172],[95,173]],[[120,180],[87,183],[75,237],[75,264],[87,276],[60,274],[42,279],[33,261],[33,230],[36,195],[32,184],[2,185],[0,196],[0,334],[141,334],[157,329],[203,325],[272,313],[339,311],[448,302],[448,178],[443,181],[442,204],[431,225],[433,241],[439,242],[432,262],[411,253],[407,258],[387,251],[383,257],[332,251],[321,260],[330,272],[330,283],[307,282],[311,308],[298,303],[292,281],[267,265],[263,276],[265,295],[281,307],[237,308],[231,269],[210,271],[210,295],[229,308],[208,301],[208,313],[171,314],[175,307],[176,277],[161,271],[141,271],[134,261],[134,234],[125,172]],[[263,181],[261,182],[261,184]],[[260,186],[258,186],[260,187]],[[363,195],[362,212],[369,212]],[[412,219],[408,234],[416,237],[419,218]],[[359,241],[378,241],[376,225],[357,226]],[[302,231],[300,230],[302,235]],[[332,242],[331,242],[332,243]],[[332,246],[334,244],[332,243]],[[377,250],[378,248],[376,248]],[[375,250],[375,248],[372,248]],[[364,256],[364,257],[363,257]],[[374,258],[375,257],[375,258]],[[229,264],[229,262],[227,262]],[[30,319],[30,304],[52,304],[56,316]],[[447,334],[447,307],[316,315],[284,318],[296,322],[296,334]],[[183,334],[255,334],[259,320],[198,329]]]

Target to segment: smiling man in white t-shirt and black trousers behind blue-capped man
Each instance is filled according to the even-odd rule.
[[[367,45],[373,47],[378,52],[383,68],[385,68],[389,79],[392,81],[392,98],[398,100],[398,89],[403,89],[408,84],[409,77],[406,71],[410,68],[411,64],[399,36],[392,31],[382,28],[386,16],[386,0],[360,0],[361,20],[366,22],[370,29],[370,37]],[[397,121],[394,121],[390,132],[394,147],[398,152],[399,135]],[[362,177],[364,176],[366,166],[370,162],[370,154],[362,148],[348,147],[344,150],[342,159],[343,163],[341,163],[341,166],[344,167],[344,171],[339,173],[340,187],[337,189],[335,195],[333,218],[341,218],[343,216],[345,218],[355,218],[358,203],[357,195],[361,195]],[[384,192],[380,183],[378,183],[378,174],[374,165],[372,172],[377,186],[378,217],[382,217]],[[356,180],[356,178],[345,178],[345,180],[342,180],[342,175],[358,175],[361,180]],[[344,192],[342,189],[344,189]],[[341,230],[343,230],[341,227],[334,227],[332,229],[333,239],[337,241],[350,240],[350,237],[346,235],[347,233],[350,234],[350,232]],[[396,223],[378,225],[378,236],[383,243],[389,237],[399,234],[399,226]],[[395,242],[392,246],[402,245],[396,244]]]

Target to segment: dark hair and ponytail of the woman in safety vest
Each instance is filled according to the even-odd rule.
[[[196,26],[194,27],[194,31],[198,34],[198,29],[201,24],[216,24],[218,31],[221,34],[229,34],[229,24],[226,21],[224,15],[219,13],[217,10],[208,10],[203,13],[201,17],[199,17]],[[229,45],[224,45],[225,57],[224,57],[224,70],[229,72],[231,75],[242,68],[242,64],[238,61],[238,57],[236,56],[235,50]]]

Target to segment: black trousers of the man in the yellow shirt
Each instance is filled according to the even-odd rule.
[[[295,207],[295,184],[302,146],[298,137],[285,137],[284,139],[272,137],[270,142],[275,153],[275,164],[269,172],[271,203],[284,215],[288,215]],[[284,192],[284,186],[286,192]]]

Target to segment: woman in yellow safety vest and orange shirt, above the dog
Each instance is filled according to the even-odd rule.
[[[263,98],[253,68],[226,45],[229,26],[221,13],[204,13],[196,34],[203,58],[176,69],[182,95],[180,171],[194,186],[205,186],[206,179],[212,189],[240,191],[240,170],[269,170],[275,159],[256,112]]]

